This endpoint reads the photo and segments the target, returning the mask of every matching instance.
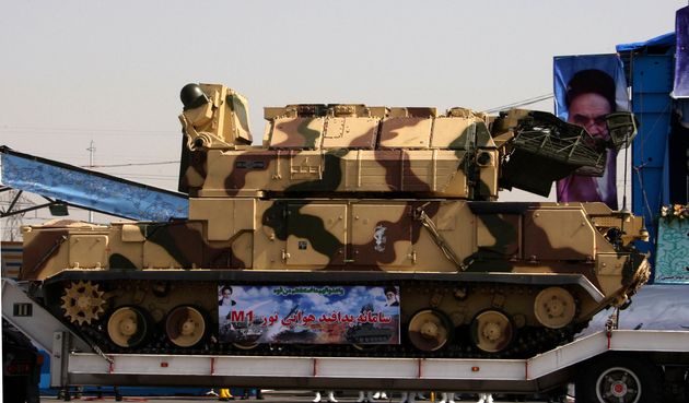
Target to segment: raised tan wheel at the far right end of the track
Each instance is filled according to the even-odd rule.
[[[572,322],[576,315],[576,303],[567,289],[548,287],[536,296],[534,313],[540,324],[546,328],[564,328]]]

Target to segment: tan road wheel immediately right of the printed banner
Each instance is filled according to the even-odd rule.
[[[440,311],[424,309],[417,312],[409,321],[409,341],[422,352],[443,348],[451,339],[449,319]]]

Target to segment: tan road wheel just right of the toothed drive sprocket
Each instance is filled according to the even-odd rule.
[[[121,307],[107,320],[107,335],[120,347],[143,344],[149,339],[151,329],[151,317],[139,307]]]

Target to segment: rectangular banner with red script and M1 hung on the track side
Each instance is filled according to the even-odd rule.
[[[396,286],[218,286],[221,343],[399,344]]]

